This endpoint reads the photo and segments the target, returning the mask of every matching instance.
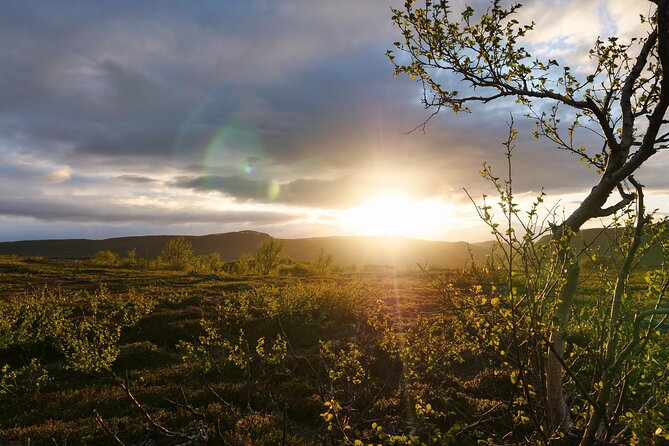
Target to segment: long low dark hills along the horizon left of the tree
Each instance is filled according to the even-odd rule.
[[[54,258],[85,258],[109,250],[125,255],[136,249],[137,256],[149,258],[160,255],[169,239],[176,236],[155,235],[118,237],[105,240],[30,240],[0,243],[0,254],[45,256]],[[241,231],[226,234],[185,236],[197,254],[217,252],[221,259],[236,260],[243,253],[253,253],[270,236],[261,232]],[[469,260],[465,242],[435,242],[406,237],[318,237],[284,239],[284,254],[295,260],[314,262],[322,249],[332,254],[335,263],[344,265],[392,265],[410,268],[416,263],[443,268],[464,265]],[[471,245],[472,254],[482,259],[488,250]]]

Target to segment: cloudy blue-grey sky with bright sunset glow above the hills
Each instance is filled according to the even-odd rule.
[[[481,163],[504,168],[511,115],[519,200],[543,187],[567,212],[583,198],[594,172],[534,141],[513,104],[409,132],[430,112],[385,56],[400,38],[391,3],[0,0],[0,241],[486,240],[464,189],[490,192]],[[532,0],[520,15],[537,55],[578,70],[598,35],[638,33],[645,3]],[[660,154],[639,174],[660,209],[668,165]]]

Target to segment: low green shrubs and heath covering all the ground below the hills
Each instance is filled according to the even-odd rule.
[[[620,253],[626,221],[610,244]],[[227,264],[179,239],[160,259],[3,257],[0,444],[570,444],[604,382],[599,321],[622,254],[582,257],[564,360],[576,428],[551,440],[540,407],[553,304],[540,290],[559,280],[541,267],[555,250],[500,231],[511,264],[493,254],[448,271],[351,272],[326,253],[299,264],[275,241]],[[669,330],[637,309],[666,307],[669,275],[629,281],[631,347],[607,429],[614,443],[661,444]]]

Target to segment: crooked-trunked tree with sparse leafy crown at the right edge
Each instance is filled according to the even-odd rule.
[[[649,0],[649,6],[650,16],[641,17],[643,32],[630,42],[616,37],[597,39],[589,51],[592,69],[586,74],[557,60],[540,60],[530,54],[522,43],[534,25],[520,24],[515,18],[519,4],[505,7],[500,0],[493,0],[480,14],[471,7],[453,13],[447,0],[426,0],[420,7],[415,0],[407,0],[404,8],[393,9],[393,22],[403,37],[395,46],[408,59],[398,58],[393,51],[388,57],[395,65],[395,75],[408,74],[422,84],[423,103],[434,109],[430,118],[442,108],[470,112],[473,104],[512,98],[535,121],[535,137],[596,168],[598,177],[590,193],[552,228],[562,281],[548,333],[545,391],[551,431],[569,428],[562,390],[565,336],[580,277],[570,242],[586,222],[613,216],[634,201],[638,209],[635,233],[643,230],[648,222],[643,186],[633,174],[669,142],[665,120],[669,107],[669,0]],[[449,87],[457,81],[466,86],[466,93]],[[584,132],[598,134],[601,145],[578,144]],[[607,204],[615,192],[619,199]],[[630,260],[620,267],[609,301],[602,385],[589,396],[592,414],[581,441],[584,445],[601,436],[598,431],[609,410],[612,382],[620,373],[620,362],[633,349],[629,344],[621,346],[620,308],[637,250],[638,243],[628,247]],[[634,332],[644,319],[668,311],[657,305],[637,311]],[[638,341],[638,336],[632,338]]]

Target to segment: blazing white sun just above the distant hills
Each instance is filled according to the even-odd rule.
[[[344,211],[340,224],[358,235],[425,238],[443,229],[446,218],[439,200],[412,200],[401,192],[384,191]]]

